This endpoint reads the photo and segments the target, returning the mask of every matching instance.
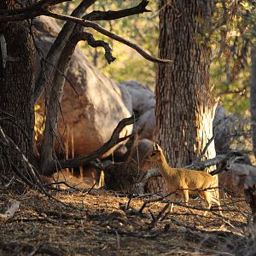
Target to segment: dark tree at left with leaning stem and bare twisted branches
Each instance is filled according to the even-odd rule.
[[[146,0],[142,0],[137,6],[129,9],[93,11],[87,15],[84,15],[85,11],[96,0],[82,0],[70,16],[50,10],[51,6],[67,2],[67,0],[39,0],[36,3],[24,0],[21,2],[19,0],[0,2],[0,183],[3,180],[3,183],[9,183],[9,177],[18,175],[26,183],[40,186],[38,172],[50,175],[57,170],[78,167],[96,159],[113,148],[115,143],[129,137],[120,138],[119,133],[125,125],[131,125],[134,121],[133,118],[123,119],[109,141],[94,154],[81,156],[74,160],[60,160],[56,164],[53,158],[53,147],[60,111],[59,105],[68,64],[76,45],[79,41],[85,40],[92,47],[102,47],[108,63],[115,60],[109,45],[102,40],[96,40],[92,34],[84,30],[84,27],[90,27],[108,38],[136,49],[149,61],[166,63],[166,60],[148,55],[137,44],[109,32],[95,22],[95,20],[116,20],[148,12]],[[40,15],[67,22],[49,49],[48,55],[44,61],[42,60],[44,65],[35,83],[32,19]],[[46,125],[44,141],[39,150],[40,155],[36,157],[33,153],[33,107],[43,91],[46,91],[47,102]],[[35,163],[35,166],[32,166],[31,162]]]

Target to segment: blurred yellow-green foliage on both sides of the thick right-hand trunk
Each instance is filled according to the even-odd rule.
[[[88,12],[126,9],[140,2],[98,0]],[[152,10],[150,13],[98,23],[109,31],[130,39],[143,49],[147,49],[151,55],[156,56],[159,25],[157,2],[149,2],[147,9]],[[60,11],[70,14],[70,9],[78,3],[79,1],[63,3]],[[198,35],[200,40],[207,39],[212,48],[211,84],[215,93],[220,96],[220,102],[230,113],[243,115],[249,107],[250,47],[256,41],[253,35],[253,26],[256,24],[255,8],[253,1],[215,1],[212,24],[207,27],[202,24],[203,34]],[[135,79],[154,89],[156,67],[152,62],[144,60],[135,50],[123,44],[103,37],[93,30],[89,32],[93,32],[96,39],[108,42],[113,49],[113,56],[117,58],[108,65],[103,49],[93,49],[86,43],[80,43],[84,53],[102,73],[115,81]]]

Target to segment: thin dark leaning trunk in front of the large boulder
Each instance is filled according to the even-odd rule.
[[[73,11],[74,16],[82,16],[86,9],[90,7],[91,4],[96,2],[95,0],[90,0],[87,2],[80,3],[79,7]],[[40,148],[40,172],[45,173],[47,172],[47,166],[49,162],[53,159],[53,150],[55,145],[55,137],[58,125],[58,113],[61,106],[61,98],[63,95],[63,89],[65,84],[65,77],[67,76],[67,69],[69,67],[69,62],[71,61],[71,57],[73,52],[78,44],[79,40],[75,38],[77,32],[83,30],[82,26],[73,25],[72,22],[67,22],[65,26],[61,29],[60,34],[55,39],[55,44],[49,50],[49,54],[47,58],[49,60],[57,63],[57,70],[55,72],[55,77],[53,79],[53,87],[49,90],[46,89],[46,103],[45,106],[47,108],[46,113],[46,122],[44,128],[44,138]],[[61,41],[65,39],[66,44],[63,44]],[[61,50],[58,45],[61,45]],[[59,59],[55,57],[55,54],[58,53],[60,55]],[[61,74],[60,73],[63,74]],[[47,67],[47,72],[52,73],[53,69],[51,66]],[[35,91],[36,96],[40,95],[40,90],[42,90],[45,86],[45,76],[44,72],[40,74],[38,81],[38,90]]]

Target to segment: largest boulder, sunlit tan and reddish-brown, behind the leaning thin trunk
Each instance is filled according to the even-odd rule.
[[[46,55],[60,27],[47,17],[38,19],[36,27],[41,38],[38,47]],[[37,67],[38,75],[39,61]],[[128,90],[120,90],[113,80],[100,73],[79,47],[72,57],[67,78],[79,96],[66,82],[61,102],[63,117],[59,117],[58,131],[62,135],[66,126],[70,131],[73,129],[75,154],[89,154],[108,141],[121,119],[131,116],[131,96]],[[129,125],[121,136],[129,135],[131,131],[132,125]]]

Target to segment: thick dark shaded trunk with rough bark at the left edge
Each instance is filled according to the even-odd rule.
[[[0,2],[0,9],[15,8],[20,8],[18,1]],[[3,35],[2,40],[3,37],[6,40],[8,55],[5,66],[4,53],[0,51],[0,125],[20,151],[32,160],[35,50],[29,26],[27,20],[0,23],[0,35]],[[10,161],[18,165],[6,150],[3,144],[0,144],[0,177],[13,176]]]

